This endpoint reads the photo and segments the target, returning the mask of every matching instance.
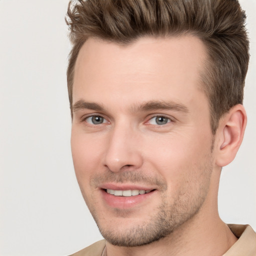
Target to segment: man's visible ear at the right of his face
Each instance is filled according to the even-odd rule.
[[[241,104],[233,106],[219,120],[216,131],[216,165],[222,167],[230,163],[242,142],[247,116]]]

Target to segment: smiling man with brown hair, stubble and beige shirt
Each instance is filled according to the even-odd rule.
[[[246,126],[236,0],[69,4],[71,149],[105,240],[73,255],[256,255],[217,210]]]

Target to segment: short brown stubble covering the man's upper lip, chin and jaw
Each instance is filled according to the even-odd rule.
[[[195,177],[194,180],[190,180],[190,182],[199,182],[200,184],[196,187],[197,191],[195,192],[195,196],[191,197],[190,185],[187,187],[184,186],[181,190],[176,191],[172,204],[168,203],[167,184],[158,176],[143,176],[141,173],[135,171],[114,173],[110,170],[106,171],[104,174],[94,174],[90,179],[91,187],[94,187],[100,182],[122,183],[125,181],[133,183],[143,181],[143,184],[157,185],[157,190],[161,194],[161,203],[159,206],[157,206],[154,211],[148,212],[148,215],[150,215],[148,220],[134,223],[134,225],[126,228],[125,231],[122,229],[118,230],[118,226],[105,227],[102,221],[107,220],[102,220],[101,218],[104,212],[98,212],[93,205],[93,200],[91,200],[92,203],[89,203],[81,186],[80,188],[100,233],[109,243],[126,247],[141,246],[168,236],[199,211],[208,192],[212,165],[209,164],[209,161],[205,161],[203,166],[200,167],[200,170],[199,176]],[[206,181],[205,176],[207,177]],[[204,182],[201,182],[201,180],[204,180]],[[127,217],[129,215],[127,210],[114,209],[114,211],[114,215],[121,215],[122,218],[125,218],[125,214]],[[132,219],[130,221],[132,221]]]

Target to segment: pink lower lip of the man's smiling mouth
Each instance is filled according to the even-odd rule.
[[[137,204],[144,203],[154,193],[155,193],[155,190],[153,190],[149,193],[132,195],[132,196],[115,196],[115,195],[107,193],[104,189],[101,189],[101,194],[102,194],[103,200],[110,207],[119,208],[119,209],[128,209],[128,208],[136,206]]]

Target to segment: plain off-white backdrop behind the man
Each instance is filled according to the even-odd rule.
[[[68,0],[0,0],[0,255],[67,255],[101,239],[73,171],[66,89]],[[256,229],[256,1],[244,141],[224,167],[220,216]]]

